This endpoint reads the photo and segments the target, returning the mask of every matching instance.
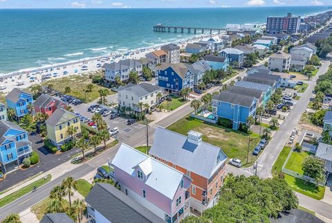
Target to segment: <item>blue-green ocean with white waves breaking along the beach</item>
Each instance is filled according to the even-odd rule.
[[[327,6],[247,8],[5,9],[0,10],[0,74],[147,48],[186,33],[154,33],[153,26],[223,28],[264,23],[269,15],[312,15]]]

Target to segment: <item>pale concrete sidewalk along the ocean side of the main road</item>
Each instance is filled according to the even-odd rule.
[[[111,138],[109,141],[107,141],[107,144],[109,144],[113,141],[115,141],[115,139]],[[98,147],[100,147],[100,146],[103,147],[104,143],[103,142],[100,143],[100,145]],[[85,153],[92,152],[93,150],[94,150],[94,148],[91,148],[90,150],[86,150]],[[82,157],[82,154],[80,154],[77,157]],[[70,172],[71,170],[73,170],[74,168],[77,168],[77,166],[81,166],[82,164],[83,163],[72,164],[71,160],[66,161],[66,163],[62,163],[60,166],[57,166],[56,168],[53,168],[52,170],[48,170],[47,172],[42,173],[38,177],[25,181],[23,184],[18,184],[18,185],[12,186],[12,188],[8,189],[5,193],[0,195],[0,199],[16,192],[17,190],[20,190],[21,188],[24,188],[25,186],[28,186],[29,184],[32,184],[33,182],[35,182],[39,179],[46,177],[47,175],[51,175],[52,179],[50,181],[53,181],[54,179],[57,179],[58,177],[66,175],[67,172]]]

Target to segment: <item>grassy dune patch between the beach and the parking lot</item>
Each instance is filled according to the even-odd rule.
[[[68,95],[74,96],[81,100],[85,100],[86,87],[88,84],[92,83],[92,79],[89,78],[89,75],[71,75],[66,78],[57,78],[53,80],[48,80],[42,83],[42,86],[47,86],[48,84],[53,84],[53,89],[64,93],[64,89],[66,87],[71,87],[71,92],[66,93]],[[93,100],[100,98],[100,93],[98,92],[100,89],[105,89],[100,85],[93,84],[93,89],[90,93],[86,93],[86,102],[92,102]],[[113,92],[109,89],[109,94],[113,94]]]

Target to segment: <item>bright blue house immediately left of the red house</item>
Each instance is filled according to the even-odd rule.
[[[33,107],[33,95],[20,89],[12,89],[6,96],[7,107],[15,111],[15,117],[19,118],[29,114],[28,105]]]

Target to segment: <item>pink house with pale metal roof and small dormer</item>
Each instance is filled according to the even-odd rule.
[[[165,222],[179,222],[189,214],[191,179],[182,172],[125,144],[111,166],[121,191]]]

